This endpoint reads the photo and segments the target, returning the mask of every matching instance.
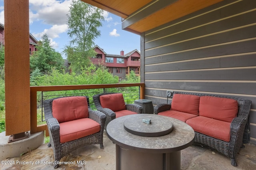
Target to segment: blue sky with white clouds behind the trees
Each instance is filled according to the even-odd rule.
[[[71,0],[29,0],[30,33],[40,40],[47,34],[52,47],[62,53],[68,45],[68,26],[66,25]],[[4,24],[4,0],[0,0],[0,22]],[[104,12],[104,22],[100,28],[101,36],[94,42],[108,54],[120,54],[138,49],[140,51],[140,36],[122,30],[121,18],[109,12]],[[64,55],[62,55],[65,58]]]

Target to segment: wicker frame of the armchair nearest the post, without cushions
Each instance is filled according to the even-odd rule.
[[[89,98],[87,96],[85,97],[88,102],[89,118],[100,124],[100,132],[65,143],[60,143],[60,125],[57,119],[52,116],[52,101],[60,97],[44,101],[44,116],[49,131],[50,146],[52,146],[53,149],[54,160],[58,161],[63,156],[66,156],[73,150],[76,150],[77,148],[88,144],[100,144],[100,148],[104,148],[103,131],[106,121],[106,115],[104,113],[101,113],[100,111],[93,111],[92,109],[90,109]],[[55,167],[58,167],[58,165],[55,165]]]

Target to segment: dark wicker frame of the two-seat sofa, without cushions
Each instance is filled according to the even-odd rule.
[[[214,96],[214,97],[225,97],[229,99],[234,99],[238,102],[238,113],[237,117],[233,119],[230,125],[230,141],[226,142],[211,136],[199,133],[195,131],[195,143],[204,144],[218,150],[220,153],[228,156],[231,160],[233,166],[237,166],[236,155],[239,149],[243,146],[243,135],[248,121],[248,116],[250,113],[251,101],[241,97],[232,96],[222,96],[222,95],[209,95],[202,93],[183,93],[176,92],[174,94],[188,94],[188,95],[198,95],[198,96]],[[154,108],[155,114],[163,111],[170,110],[171,104],[159,104]],[[247,129],[246,129],[247,130]]]

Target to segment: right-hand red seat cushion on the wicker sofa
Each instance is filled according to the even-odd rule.
[[[196,132],[229,142],[230,124],[208,117],[198,116],[186,121]]]

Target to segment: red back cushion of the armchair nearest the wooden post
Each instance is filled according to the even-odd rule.
[[[63,97],[52,101],[52,115],[59,123],[89,117],[86,97]]]

